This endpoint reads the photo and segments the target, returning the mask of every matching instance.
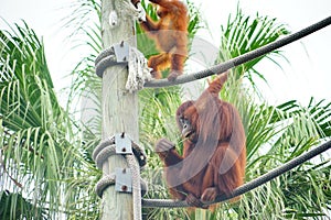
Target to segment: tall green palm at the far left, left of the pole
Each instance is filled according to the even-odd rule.
[[[25,23],[0,32],[1,215],[44,219],[64,210],[76,162],[71,119],[58,105],[43,43]]]

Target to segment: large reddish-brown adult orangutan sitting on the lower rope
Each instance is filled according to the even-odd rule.
[[[227,74],[217,76],[196,101],[182,103],[177,122],[183,136],[183,155],[161,139],[156,151],[164,163],[170,194],[194,207],[214,201],[243,185],[246,138],[237,110],[218,98]]]

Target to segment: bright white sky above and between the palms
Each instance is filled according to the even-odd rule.
[[[229,13],[235,13],[237,1],[192,0],[199,7],[210,32],[199,32],[199,37],[212,45],[218,45],[220,26],[225,24]],[[67,41],[70,30],[61,28],[61,20],[72,13],[70,0],[0,0],[0,16],[10,24],[26,21],[45,43],[46,59],[56,90],[70,86],[64,78],[79,61],[79,50],[73,50]],[[216,6],[215,6],[215,2]],[[330,0],[241,0],[245,14],[277,18],[292,31],[299,31],[331,15]],[[1,29],[8,29],[0,21]],[[331,101],[331,73],[329,69],[331,50],[331,25],[299,42],[281,48],[289,63],[280,61],[282,69],[270,62],[263,62],[258,70],[265,74],[268,85],[259,84],[269,103],[281,103],[291,99],[303,106],[310,97]]]

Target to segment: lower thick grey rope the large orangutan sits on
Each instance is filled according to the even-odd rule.
[[[225,201],[232,198],[235,198],[237,196],[241,196],[243,194],[246,194],[247,191],[250,191],[252,189],[257,188],[258,186],[261,186],[263,184],[280,176],[281,174],[285,174],[286,172],[289,172],[290,169],[301,165],[302,163],[311,160],[312,157],[328,151],[331,147],[331,141],[325,142],[324,144],[310,150],[309,152],[285,163],[282,166],[275,168],[274,170],[270,170],[260,177],[244,184],[243,186],[239,186],[235,190],[233,190],[229,195],[222,195],[216,198],[215,201],[206,204],[216,204],[221,201]],[[142,199],[142,207],[151,208],[151,207],[159,207],[159,208],[180,208],[180,207],[189,207],[186,201],[178,201],[178,200],[171,200],[171,199]]]

